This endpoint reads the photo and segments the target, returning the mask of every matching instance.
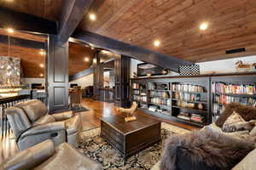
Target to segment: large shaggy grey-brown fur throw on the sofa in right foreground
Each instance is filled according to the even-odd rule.
[[[178,161],[183,159],[183,156],[191,160],[191,169],[196,167],[196,164],[209,167],[206,169],[231,169],[253,149],[253,139],[237,139],[207,129],[184,135],[172,135],[166,139],[160,169],[179,169],[177,162],[186,163],[183,160]],[[182,153],[181,157],[177,156],[177,152]]]

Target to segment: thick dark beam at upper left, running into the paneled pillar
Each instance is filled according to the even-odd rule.
[[[13,28],[20,31],[57,34],[57,23],[45,20],[32,14],[16,12],[9,8],[0,7],[0,27]]]

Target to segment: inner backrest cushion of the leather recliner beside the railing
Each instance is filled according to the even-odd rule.
[[[47,107],[38,99],[20,102],[16,106],[22,108],[26,112],[26,115],[32,123],[48,113]]]

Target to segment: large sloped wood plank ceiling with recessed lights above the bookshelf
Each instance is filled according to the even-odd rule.
[[[96,20],[89,20],[90,13]],[[194,62],[256,54],[255,0],[106,0],[80,28]],[[209,27],[199,26],[207,21]],[[155,48],[154,40],[160,40]],[[246,53],[225,50],[246,48]]]

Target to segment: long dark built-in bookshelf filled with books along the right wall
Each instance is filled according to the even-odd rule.
[[[203,127],[230,102],[255,106],[256,74],[135,78],[131,100],[152,116]]]

